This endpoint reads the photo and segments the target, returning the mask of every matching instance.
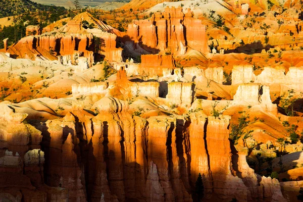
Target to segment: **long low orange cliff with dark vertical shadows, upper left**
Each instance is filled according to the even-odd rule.
[[[90,61],[93,53],[99,54],[99,57],[103,55],[110,61],[122,61],[122,49],[116,48],[116,36],[110,33],[98,33],[96,36],[91,33],[46,33],[22,38],[7,50],[14,58],[31,60],[36,57],[54,60],[57,56],[73,55],[74,51],[81,52],[81,56],[90,58]]]

